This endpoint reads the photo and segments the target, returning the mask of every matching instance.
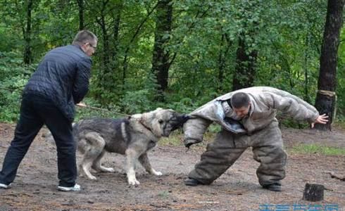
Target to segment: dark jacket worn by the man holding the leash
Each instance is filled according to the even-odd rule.
[[[75,103],[89,91],[92,60],[80,46],[58,47],[46,53],[24,94],[37,94],[54,101],[56,107],[71,122],[75,115]]]

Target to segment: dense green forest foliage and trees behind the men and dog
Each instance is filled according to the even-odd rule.
[[[189,113],[229,91],[270,86],[318,109],[320,90],[329,91],[325,113],[344,122],[343,8],[344,0],[1,0],[0,122],[18,119],[44,54],[82,29],[99,37],[84,103],[103,110],[78,109],[77,118]]]

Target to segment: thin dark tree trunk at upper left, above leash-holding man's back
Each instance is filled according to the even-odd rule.
[[[25,49],[24,49],[24,63],[29,65],[32,62],[31,52],[31,12],[32,12],[32,0],[27,1],[27,20],[26,29],[24,30]]]

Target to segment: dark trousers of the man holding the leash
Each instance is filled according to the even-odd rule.
[[[72,122],[63,116],[53,101],[36,94],[23,95],[20,119],[0,172],[1,184],[8,185],[14,181],[20,162],[43,124],[49,128],[56,143],[59,186],[75,185],[76,143],[73,140]]]

